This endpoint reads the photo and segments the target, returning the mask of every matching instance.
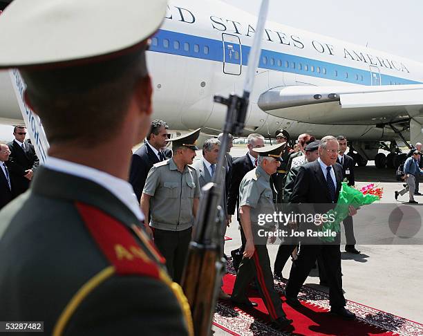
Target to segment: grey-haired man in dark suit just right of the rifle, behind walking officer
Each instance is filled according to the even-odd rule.
[[[235,209],[238,207],[238,196],[239,196],[239,185],[241,184],[241,180],[248,171],[257,167],[257,158],[259,156],[258,153],[253,151],[254,148],[264,147],[264,137],[258,133],[252,133],[247,138],[247,147],[248,152],[245,156],[241,156],[234,160],[232,164],[232,178],[231,183],[229,186],[229,195],[227,197],[227,213],[232,216],[235,214]],[[238,222],[240,222],[239,213],[236,212]],[[241,223],[240,223],[241,225]],[[242,245],[241,248],[233,250],[231,252],[232,257],[234,258],[234,268],[237,269],[239,263],[241,263],[241,259],[243,256],[244,248],[245,248],[245,236],[241,226],[241,241]]]

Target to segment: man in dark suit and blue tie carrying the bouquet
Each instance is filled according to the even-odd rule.
[[[337,161],[339,144],[337,138],[326,136],[319,145],[319,158],[303,165],[294,183],[290,197],[291,203],[302,203],[301,207],[314,215],[326,214],[337,203],[341,181],[342,167]],[[311,204],[304,204],[311,203]],[[354,207],[349,209],[350,215],[357,213]],[[317,223],[301,223],[301,230],[315,232]],[[319,238],[306,234],[301,238],[301,251],[298,259],[292,263],[290,279],[285,290],[285,297],[291,306],[301,306],[297,295],[318,256],[326,269],[329,283],[330,312],[344,319],[354,319],[355,315],[346,310],[346,301],[342,290],[341,251],[339,236],[334,243],[322,243]]]

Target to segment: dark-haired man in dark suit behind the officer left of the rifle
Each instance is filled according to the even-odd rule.
[[[142,189],[144,189],[145,180],[147,180],[147,175],[151,167],[157,162],[168,159],[164,151],[162,151],[162,147],[166,147],[166,140],[169,138],[169,133],[167,133],[168,128],[166,122],[153,120],[151,122],[150,133],[144,145],[133,153],[131,170],[129,171],[129,183],[133,187],[138,202],[140,201]],[[168,149],[168,155],[169,151]]]

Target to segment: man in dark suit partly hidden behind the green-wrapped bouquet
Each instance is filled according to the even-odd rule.
[[[348,180],[348,185],[353,186],[355,185],[354,159],[346,155],[345,153],[348,146],[347,139],[344,136],[337,136],[337,140],[339,143],[339,154],[338,154],[337,162],[342,166],[344,180],[345,179]],[[353,254],[360,254],[360,251],[358,251],[355,248],[356,241],[354,236],[353,217],[348,216],[347,218],[344,219],[343,223],[344,223],[345,238],[346,238],[346,245],[345,245],[346,252],[350,252]]]

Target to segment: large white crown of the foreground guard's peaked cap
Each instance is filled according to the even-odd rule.
[[[140,44],[166,0],[15,0],[0,14],[0,67],[69,62]]]

